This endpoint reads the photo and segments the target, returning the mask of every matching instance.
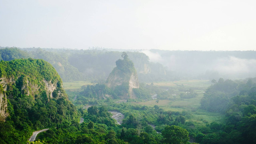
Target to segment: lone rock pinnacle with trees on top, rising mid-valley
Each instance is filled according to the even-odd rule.
[[[117,98],[136,98],[133,88],[139,88],[139,80],[132,61],[126,53],[122,54],[124,60],[117,60],[116,67],[109,74],[106,85],[114,90]]]

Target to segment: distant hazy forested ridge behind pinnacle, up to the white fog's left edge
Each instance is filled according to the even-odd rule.
[[[37,58],[50,62],[63,81],[90,80],[104,83],[121,58],[122,52],[106,50],[68,50],[46,48],[0,48],[1,60]],[[127,52],[142,81],[164,80],[166,70],[159,63],[149,62],[141,52]]]

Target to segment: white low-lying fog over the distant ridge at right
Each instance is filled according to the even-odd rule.
[[[164,51],[142,50],[151,62],[193,78],[256,77],[255,51]]]

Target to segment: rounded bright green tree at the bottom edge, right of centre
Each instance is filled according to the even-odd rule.
[[[166,126],[162,131],[167,144],[186,144],[189,140],[188,131],[180,126]]]

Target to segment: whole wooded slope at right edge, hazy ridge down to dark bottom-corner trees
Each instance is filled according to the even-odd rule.
[[[216,82],[213,80],[212,82]],[[256,78],[223,80],[212,84],[201,100],[201,107],[223,112],[224,124],[212,122],[196,138],[200,143],[256,143]]]

